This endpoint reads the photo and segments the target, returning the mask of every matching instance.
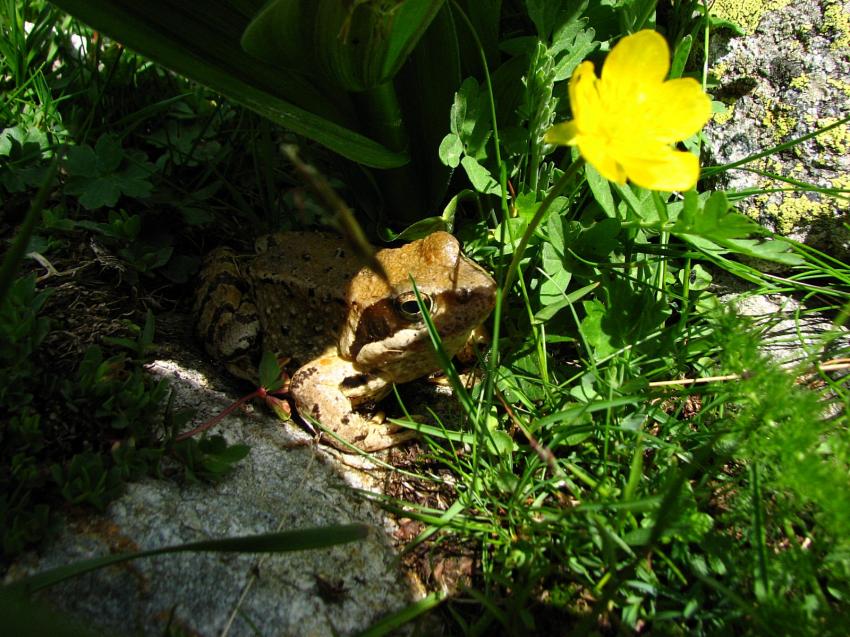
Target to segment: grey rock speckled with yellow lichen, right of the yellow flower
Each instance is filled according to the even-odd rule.
[[[850,2],[718,0],[712,12],[748,29],[712,36],[713,91],[728,113],[708,127],[716,163],[737,161],[837,122],[850,103]],[[823,188],[850,188],[847,123],[791,149],[747,164]],[[763,174],[736,169],[724,187],[788,188]],[[846,195],[845,195],[846,196]],[[850,255],[846,200],[814,192],[772,192],[739,203],[768,228],[833,256]]]

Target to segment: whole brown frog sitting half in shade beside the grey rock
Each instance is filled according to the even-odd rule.
[[[411,277],[449,355],[495,302],[493,278],[446,232],[379,250],[388,281],[332,234],[279,233],[256,248],[207,257],[195,304],[207,350],[253,381],[261,350],[290,357],[300,366],[290,383],[299,414],[366,451],[412,434],[368,420],[358,406],[439,369]]]

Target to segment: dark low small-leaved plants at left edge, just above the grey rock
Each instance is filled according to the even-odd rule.
[[[107,357],[93,345],[71,378],[40,364],[44,353],[39,348],[50,326],[38,313],[47,297],[36,292],[35,278],[29,276],[18,279],[0,303],[4,557],[44,539],[60,499],[104,509],[128,480],[159,473],[166,454],[183,465],[186,477],[218,480],[248,452],[220,438],[172,446],[170,432],[182,417],[164,411],[167,384],[142,368],[154,337],[150,313],[135,339],[105,339],[126,352]],[[60,433],[76,440],[57,445]]]

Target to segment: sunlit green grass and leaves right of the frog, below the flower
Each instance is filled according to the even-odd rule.
[[[622,3],[621,17],[641,24],[651,4]],[[494,411],[482,383],[461,401],[471,451],[457,453],[449,423],[428,429],[442,439],[428,460],[460,485],[451,516],[390,506],[405,515],[413,507],[429,532],[480,548],[479,610],[452,605],[464,632],[498,624],[508,634],[548,634],[566,623],[586,634],[602,623],[661,634],[840,634],[850,585],[846,417],[827,417],[836,397],[796,381],[808,367],[778,368],[759,351],[763,335],[721,310],[708,264],[765,292],[775,289],[770,279],[734,255],[805,266],[806,277],[825,271],[815,274],[804,252],[739,214],[723,192],[676,200],[612,187],[590,166],[578,177],[562,173],[540,144],[550,96],[564,90],[552,89],[545,38],[570,31],[580,59],[609,46],[595,40],[607,27],[591,8],[587,22],[558,22],[553,3],[528,11],[544,39],[504,45],[528,66],[514,58],[493,74],[498,134],[486,85],[468,79],[440,149],[493,217],[502,174],[516,191],[494,229],[464,234],[496,272],[518,259],[488,369],[513,413]],[[699,31],[676,24],[681,72]],[[579,33],[582,25],[596,35]],[[509,64],[527,68],[513,110],[501,99]],[[520,237],[527,243],[518,253]],[[834,295],[836,311],[847,303],[848,273],[830,272],[837,286],[819,290]],[[826,341],[809,351],[820,347]],[[650,385],[728,374],[740,378]],[[846,402],[846,389],[830,387]],[[496,444],[505,431],[517,433]]]

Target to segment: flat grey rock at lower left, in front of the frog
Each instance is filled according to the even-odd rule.
[[[171,361],[152,371],[169,378],[179,403],[200,409],[199,421],[229,404],[199,372]],[[360,522],[372,529],[362,542],[276,555],[141,559],[50,588],[43,599],[108,634],[161,635],[173,613],[173,623],[207,636],[350,635],[412,601],[388,538],[394,524],[352,490],[374,488],[369,471],[328,462],[306,433],[263,414],[229,417],[215,431],[251,446],[220,484],[131,484],[104,515],[69,520],[55,542],[20,559],[7,579],[111,552]]]

